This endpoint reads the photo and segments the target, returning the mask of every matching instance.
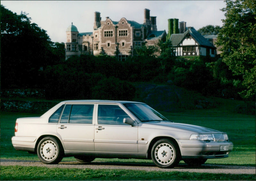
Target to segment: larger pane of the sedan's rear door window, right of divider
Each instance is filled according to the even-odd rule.
[[[94,105],[73,105],[69,123],[92,124],[93,106]]]

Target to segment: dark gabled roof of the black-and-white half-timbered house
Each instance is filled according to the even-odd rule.
[[[178,46],[184,38],[190,35],[200,46],[216,48],[210,43],[203,35],[198,33],[194,27],[188,27],[188,30],[185,33],[181,34],[172,34],[170,40],[172,41],[172,46]]]

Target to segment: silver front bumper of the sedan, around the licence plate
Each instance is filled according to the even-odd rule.
[[[230,141],[197,141],[197,140],[178,140],[182,158],[226,158],[233,149]],[[228,150],[220,151],[220,146],[228,146]]]

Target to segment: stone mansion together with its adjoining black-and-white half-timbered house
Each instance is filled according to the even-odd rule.
[[[179,27],[180,26],[180,27]],[[106,54],[125,61],[128,56],[136,54],[136,48],[143,44],[154,46],[159,40],[172,42],[176,56],[210,56],[215,57],[216,47],[193,27],[186,27],[186,22],[168,19],[168,34],[157,31],[156,17],[150,16],[150,10],[144,9],[143,24],[121,18],[112,21],[106,17],[101,20],[100,12],[94,12],[93,32],[79,33],[73,23],[66,31],[66,60],[73,55]]]

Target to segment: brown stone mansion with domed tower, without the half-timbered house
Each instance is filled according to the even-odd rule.
[[[101,20],[100,12],[94,12],[93,32],[79,33],[73,23],[66,31],[66,60],[73,55],[106,54],[124,61],[135,54],[135,49],[143,44],[155,45],[166,40],[166,32],[157,31],[156,17],[150,17],[150,10],[144,9],[143,24],[121,18],[112,21],[106,17]]]

